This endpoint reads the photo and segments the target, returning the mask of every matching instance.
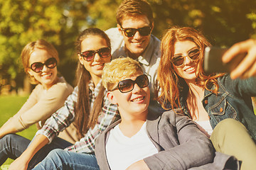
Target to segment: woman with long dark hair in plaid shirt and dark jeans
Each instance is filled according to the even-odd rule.
[[[31,143],[18,135],[0,140],[1,162],[7,157],[16,159],[9,170],[32,169],[55,148],[93,153],[95,138],[119,118],[117,106],[107,100],[106,90],[101,85],[102,69],[111,60],[110,39],[98,28],[87,28],[78,36],[76,47],[78,86],[68,96],[65,106],[53,113]],[[75,123],[75,132],[82,137],[74,145],[57,137],[70,123]],[[46,166],[46,169],[51,168]]]

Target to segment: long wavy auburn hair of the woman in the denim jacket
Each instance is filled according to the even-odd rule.
[[[175,66],[171,62],[174,56],[175,43],[184,40],[190,40],[196,43],[197,47],[200,49],[196,67],[196,84],[198,86],[208,90],[210,90],[210,87],[215,86],[215,88],[210,91],[217,94],[219,87],[217,78],[223,76],[223,74],[207,75],[203,72],[204,50],[207,46],[211,45],[200,32],[189,27],[170,28],[161,39],[161,60],[157,72],[158,91],[161,91],[161,94],[156,99],[161,103],[164,109],[169,109],[169,104],[172,109],[181,107],[179,100],[181,90],[188,88],[186,82],[181,77],[178,77],[178,74],[174,71]]]

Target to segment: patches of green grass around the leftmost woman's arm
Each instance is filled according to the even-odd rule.
[[[21,106],[23,106],[23,103],[26,102],[27,98],[28,96],[0,96],[0,126],[4,125],[11,116],[18,112]],[[32,140],[36,131],[36,125],[32,125],[28,129],[18,132],[17,134]],[[11,164],[11,162],[13,162],[12,159],[7,159],[3,165]]]

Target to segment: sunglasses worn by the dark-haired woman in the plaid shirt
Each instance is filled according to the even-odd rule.
[[[95,54],[100,55],[102,58],[110,57],[111,55],[111,48],[110,47],[102,47],[98,50],[87,50],[84,52],[80,52],[79,54],[84,58],[86,61],[93,60]]]

